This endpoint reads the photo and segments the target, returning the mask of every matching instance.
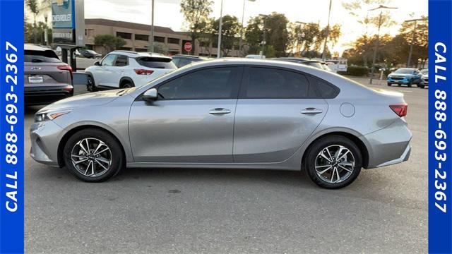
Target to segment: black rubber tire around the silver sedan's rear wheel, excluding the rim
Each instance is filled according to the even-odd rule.
[[[352,167],[350,169],[353,170],[351,173],[348,173],[348,175],[346,171],[343,171],[343,169],[339,168],[341,172],[344,173],[343,176],[345,177],[347,175],[347,177],[338,183],[328,183],[328,181],[323,179],[322,175],[319,176],[316,173],[316,159],[319,153],[322,152],[322,150],[325,150],[326,147],[332,147],[335,145],[343,146],[351,152],[352,158],[355,159],[354,162],[355,166],[354,167],[350,166]],[[316,140],[316,142],[309,147],[309,150],[307,150],[306,156],[304,157],[304,169],[307,171],[309,178],[314,183],[316,183],[317,186],[320,186],[321,188],[328,189],[344,188],[345,186],[348,186],[350,185],[350,183],[355,181],[355,179],[357,179],[357,176],[359,175],[361,168],[362,168],[362,155],[361,151],[359,150],[359,147],[357,147],[357,145],[353,143],[352,140],[349,140],[348,138],[345,138],[341,135],[328,135],[324,138]],[[342,176],[340,178],[342,178]]]

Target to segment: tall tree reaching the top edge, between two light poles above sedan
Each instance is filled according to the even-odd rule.
[[[181,11],[184,13],[186,30],[189,31],[193,52],[195,52],[195,40],[207,30],[208,16],[212,13],[213,1],[210,0],[182,0]]]

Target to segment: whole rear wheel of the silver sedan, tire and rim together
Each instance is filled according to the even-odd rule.
[[[316,141],[304,160],[309,178],[322,188],[337,189],[357,179],[362,167],[359,148],[348,138],[330,135]]]

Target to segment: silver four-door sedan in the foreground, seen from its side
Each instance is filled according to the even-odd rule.
[[[221,59],[40,109],[30,155],[90,182],[126,167],[244,168],[306,170],[342,188],[362,167],[408,159],[406,114],[400,92],[301,64]]]

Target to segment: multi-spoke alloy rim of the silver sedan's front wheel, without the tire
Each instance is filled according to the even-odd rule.
[[[97,138],[83,138],[71,151],[73,167],[83,176],[102,176],[112,166],[112,159],[108,145]]]

